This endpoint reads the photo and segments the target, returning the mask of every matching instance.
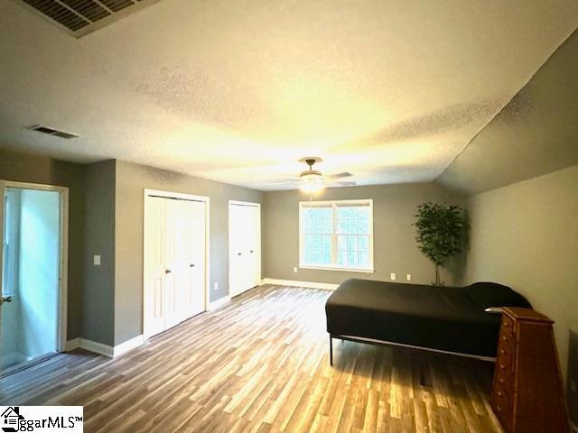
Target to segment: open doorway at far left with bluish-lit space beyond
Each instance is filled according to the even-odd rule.
[[[0,375],[64,350],[68,189],[0,180]]]

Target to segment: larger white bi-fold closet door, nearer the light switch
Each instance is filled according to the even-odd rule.
[[[145,196],[144,336],[205,310],[208,203]]]

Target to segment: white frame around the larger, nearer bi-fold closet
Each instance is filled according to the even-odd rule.
[[[205,203],[205,290],[204,291],[204,311],[209,310],[209,296],[210,296],[210,198],[207,196],[197,196],[194,194],[186,194],[182,192],[163,191],[160,189],[144,189],[143,191],[143,311],[142,329],[144,335],[144,285],[146,284],[146,255],[144,251],[144,237],[146,236],[146,200],[150,197],[156,198],[177,198],[189,201],[200,201]],[[144,335],[144,338],[150,336]]]

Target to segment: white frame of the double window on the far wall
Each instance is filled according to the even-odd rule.
[[[337,264],[337,207],[338,206],[368,206],[369,207],[369,267],[359,268],[350,266],[340,266]],[[303,262],[303,208],[306,207],[330,207],[333,211],[333,230],[331,234],[331,265],[307,264]],[[343,272],[375,272],[373,263],[373,199],[355,200],[326,200],[326,201],[300,201],[299,202],[299,268],[315,269],[322,271],[343,271]]]

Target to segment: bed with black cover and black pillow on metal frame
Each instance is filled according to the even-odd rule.
[[[393,344],[494,360],[500,314],[485,309],[531,308],[516,291],[491,282],[464,288],[350,279],[325,305],[332,340]]]

